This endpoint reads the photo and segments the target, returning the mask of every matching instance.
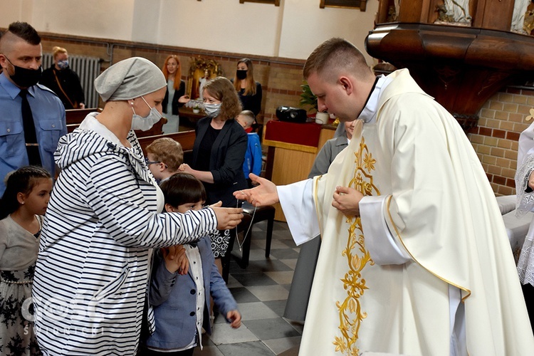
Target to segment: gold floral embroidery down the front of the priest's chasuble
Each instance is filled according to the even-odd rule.
[[[354,152],[355,171],[348,184],[349,187],[361,192],[364,196],[380,195],[377,187],[373,184],[372,171],[375,170],[376,159],[372,157],[365,139],[362,137],[357,152]],[[359,355],[357,348],[358,330],[362,321],[367,318],[367,313],[361,308],[360,297],[367,289],[365,279],[361,272],[367,266],[375,264],[369,251],[365,249],[365,239],[362,231],[362,221],[360,216],[347,217],[348,239],[347,246],[343,249],[341,256],[346,258],[348,271],[341,278],[343,288],[347,291],[345,300],[336,302],[340,315],[339,330],[341,336],[335,336],[333,344],[335,352],[343,355]]]

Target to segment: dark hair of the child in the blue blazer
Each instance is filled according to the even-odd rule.
[[[170,206],[206,201],[204,184],[193,174],[178,172],[163,181],[159,187],[165,197],[165,204]]]

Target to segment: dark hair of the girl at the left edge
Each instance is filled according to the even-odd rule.
[[[50,173],[40,166],[26,166],[10,172],[4,178],[6,190],[0,201],[0,219],[19,209],[19,200],[16,194],[30,194],[37,183],[37,179],[51,179]]]

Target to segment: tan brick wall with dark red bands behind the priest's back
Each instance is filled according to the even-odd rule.
[[[479,112],[478,126],[468,132],[496,195],[515,194],[520,133],[532,122],[526,121],[534,108],[534,90],[503,88]]]

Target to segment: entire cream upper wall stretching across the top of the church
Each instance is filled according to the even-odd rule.
[[[319,9],[319,0],[281,0],[281,6],[239,0],[0,0],[0,6],[1,27],[27,21],[51,33],[305,59],[333,36],[363,51],[378,0],[368,0],[365,12]]]

